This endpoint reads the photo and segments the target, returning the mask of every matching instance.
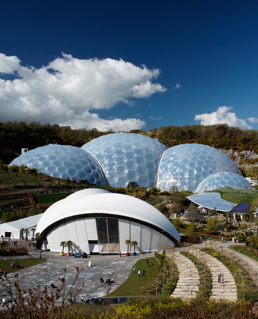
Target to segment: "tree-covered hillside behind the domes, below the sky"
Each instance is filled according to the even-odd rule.
[[[73,130],[70,126],[60,127],[49,123],[0,123],[0,159],[8,165],[21,154],[21,148],[32,150],[55,143],[81,147],[90,140],[109,133],[112,132],[87,128]],[[209,145],[225,152],[245,174],[248,169],[252,169],[252,175],[258,175],[258,130],[241,130],[227,124],[218,124],[166,126],[160,129],[153,128],[148,132],[133,130],[131,133],[148,135],[168,147],[184,143]]]

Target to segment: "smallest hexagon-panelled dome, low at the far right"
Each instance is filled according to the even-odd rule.
[[[252,186],[244,178],[244,176],[241,176],[236,173],[222,172],[212,174],[205,178],[199,184],[196,191],[197,193],[202,193],[204,191],[209,191],[227,186],[238,189],[252,189]]]

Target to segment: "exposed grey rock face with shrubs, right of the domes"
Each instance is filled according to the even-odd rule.
[[[242,151],[241,153],[232,149],[219,149],[219,151],[223,152],[224,154],[226,154],[226,156],[232,159],[238,167],[253,168],[258,166],[258,154],[252,151]],[[247,163],[242,163],[242,161],[244,161],[245,159],[248,159]],[[252,164],[250,164],[250,161],[252,162]]]

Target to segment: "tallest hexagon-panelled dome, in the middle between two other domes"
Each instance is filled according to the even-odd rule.
[[[167,147],[141,134],[114,133],[95,138],[82,149],[97,158],[111,187],[151,188],[156,186],[159,161]]]

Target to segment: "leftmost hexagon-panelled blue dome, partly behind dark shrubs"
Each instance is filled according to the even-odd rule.
[[[80,147],[70,145],[49,144],[37,147],[18,156],[9,166],[12,165],[36,167],[42,174],[61,179],[75,179],[76,182],[87,180],[90,184],[101,187],[108,184],[94,156]]]

